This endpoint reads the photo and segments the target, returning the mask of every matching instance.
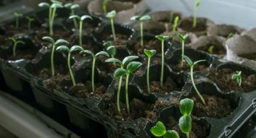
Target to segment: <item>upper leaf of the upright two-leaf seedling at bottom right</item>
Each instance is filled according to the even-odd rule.
[[[190,98],[185,98],[180,101],[180,111],[183,115],[190,115],[193,110],[194,101]]]

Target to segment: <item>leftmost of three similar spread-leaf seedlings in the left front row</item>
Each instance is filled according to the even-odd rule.
[[[69,44],[68,41],[63,40],[63,39],[59,39],[57,41],[54,41],[54,39],[52,39],[51,37],[43,37],[43,40],[49,41],[52,44],[52,52],[51,52],[51,70],[52,70],[52,77],[54,77],[55,75],[55,71],[54,71],[54,51],[55,51],[55,47],[58,46],[59,44]]]

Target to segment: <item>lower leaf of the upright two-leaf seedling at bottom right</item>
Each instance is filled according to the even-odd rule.
[[[189,133],[192,128],[192,118],[190,115],[181,116],[179,119],[180,129],[183,133]]]

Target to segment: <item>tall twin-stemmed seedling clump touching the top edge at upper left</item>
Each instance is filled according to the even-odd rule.
[[[54,25],[54,19],[56,17],[56,10],[57,8],[63,8],[63,3],[60,1],[54,1],[51,0],[52,4],[48,4],[46,2],[41,2],[39,4],[39,7],[43,7],[43,8],[49,8],[49,32],[50,35],[54,35],[54,31],[53,31],[53,25]]]

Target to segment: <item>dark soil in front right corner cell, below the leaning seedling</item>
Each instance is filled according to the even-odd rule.
[[[197,118],[204,116],[208,116],[210,118],[223,118],[230,115],[234,110],[234,105],[227,98],[205,94],[202,94],[202,97],[204,97],[206,105],[202,104],[198,95],[192,97],[192,100],[195,103],[192,115]]]

